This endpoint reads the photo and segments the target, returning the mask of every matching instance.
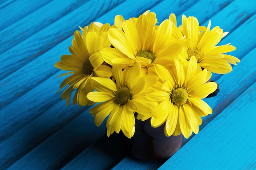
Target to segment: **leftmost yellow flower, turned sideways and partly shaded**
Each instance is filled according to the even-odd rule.
[[[61,61],[55,63],[55,67],[71,71],[61,76],[72,74],[61,83],[59,89],[61,90],[66,85],[69,85],[61,94],[63,100],[67,99],[67,105],[70,103],[73,89],[76,89],[73,105],[75,103],[82,106],[92,105],[92,102],[86,98],[86,94],[93,91],[88,81],[89,78],[92,76],[112,76],[111,68],[103,65],[104,60],[100,54],[101,49],[111,45],[107,35],[109,28],[109,24],[103,25],[99,22],[94,22],[89,27],[86,26],[82,29],[83,36],[78,30],[75,31],[72,46],[69,47],[71,55],[61,56]]]

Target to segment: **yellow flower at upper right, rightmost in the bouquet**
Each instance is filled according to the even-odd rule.
[[[176,22],[174,14],[171,14],[169,19],[174,23]],[[236,47],[230,45],[230,43],[216,46],[228,32],[223,32],[218,26],[210,30],[210,26],[211,21],[205,28],[199,26],[197,18],[182,16],[180,31],[183,36],[192,40],[184,57],[190,60],[192,56],[195,56],[202,68],[217,74],[227,74],[232,71],[229,63],[236,65],[240,60],[224,53],[234,51]]]

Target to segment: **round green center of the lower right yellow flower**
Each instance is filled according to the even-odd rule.
[[[186,103],[189,97],[186,88],[176,86],[172,89],[170,98],[175,105],[182,106]]]

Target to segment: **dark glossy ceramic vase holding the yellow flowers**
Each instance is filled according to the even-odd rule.
[[[126,139],[128,152],[141,160],[168,159],[181,147],[183,135],[164,135],[164,125],[152,128],[150,119],[141,121],[135,119],[135,134],[131,139]]]

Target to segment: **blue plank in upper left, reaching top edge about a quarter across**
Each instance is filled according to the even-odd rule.
[[[25,40],[29,36],[38,32],[59,18],[74,11],[74,9],[80,7],[88,0],[53,0],[45,6],[37,9],[28,16],[21,18],[17,22],[13,23],[9,27],[0,31],[0,36],[5,37],[0,39],[1,49],[7,51],[13,46]],[[56,8],[58,7],[58,8]],[[44,15],[42,15],[42,13]]]

